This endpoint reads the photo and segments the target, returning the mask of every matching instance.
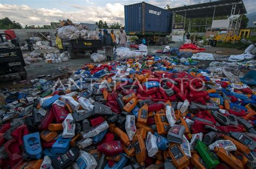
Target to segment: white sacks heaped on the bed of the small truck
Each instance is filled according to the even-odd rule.
[[[81,26],[82,27],[82,26]],[[79,30],[78,27],[73,25],[63,26],[57,30],[58,37],[62,40],[73,39],[99,39],[96,31],[89,31],[86,29]]]

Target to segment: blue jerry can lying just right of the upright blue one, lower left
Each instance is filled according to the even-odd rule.
[[[71,138],[59,137],[56,142],[52,145],[53,153],[64,153],[69,149],[69,142]]]

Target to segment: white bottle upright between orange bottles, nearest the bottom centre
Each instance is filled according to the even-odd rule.
[[[158,152],[157,137],[154,136],[150,131],[147,132],[146,148],[149,157],[153,157]]]

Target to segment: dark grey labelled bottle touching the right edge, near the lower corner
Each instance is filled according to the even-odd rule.
[[[251,139],[250,137],[246,136],[244,133],[242,132],[230,132],[230,135],[237,139],[239,142],[241,142],[242,144],[246,145],[247,147],[249,147],[251,150],[254,150],[256,147],[256,143],[254,142],[253,139]]]

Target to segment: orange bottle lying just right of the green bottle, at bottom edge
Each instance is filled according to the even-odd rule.
[[[241,161],[237,157],[233,156],[233,154],[226,151],[224,148],[215,147],[214,152],[221,160],[225,161],[225,163],[230,165],[232,168],[244,168]]]

